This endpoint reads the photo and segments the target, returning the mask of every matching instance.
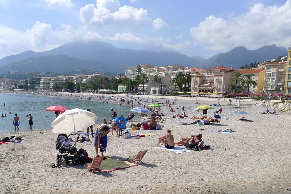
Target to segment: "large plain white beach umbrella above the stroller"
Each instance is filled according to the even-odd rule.
[[[52,131],[65,134],[82,131],[95,124],[96,117],[96,114],[79,108],[66,110],[52,122]]]

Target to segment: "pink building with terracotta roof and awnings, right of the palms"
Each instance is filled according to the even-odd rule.
[[[229,78],[237,70],[228,67],[213,67],[192,73],[191,92],[230,92]]]

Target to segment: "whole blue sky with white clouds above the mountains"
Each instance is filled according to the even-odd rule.
[[[68,42],[209,58],[291,47],[291,0],[0,0],[0,58]]]

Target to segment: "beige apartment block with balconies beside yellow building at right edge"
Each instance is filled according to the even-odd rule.
[[[284,94],[285,74],[287,62],[266,63],[265,79],[262,93],[265,94]]]

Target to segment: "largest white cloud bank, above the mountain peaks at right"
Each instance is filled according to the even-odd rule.
[[[191,36],[206,48],[228,50],[235,46],[255,49],[263,45],[291,45],[291,0],[284,5],[254,4],[249,12],[228,19],[208,16],[197,27],[190,29]]]

